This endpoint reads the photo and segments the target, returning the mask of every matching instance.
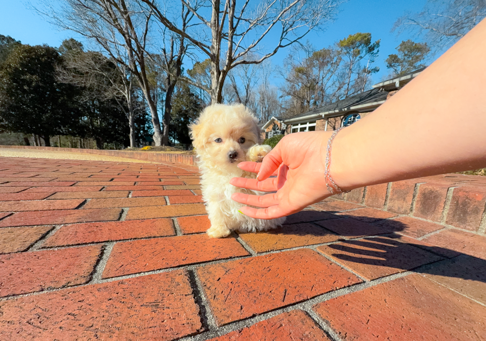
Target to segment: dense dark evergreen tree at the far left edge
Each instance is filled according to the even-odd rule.
[[[79,115],[77,89],[56,80],[61,57],[48,46],[18,45],[0,66],[0,125],[10,132],[71,135]]]

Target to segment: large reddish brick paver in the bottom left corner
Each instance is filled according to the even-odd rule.
[[[184,271],[0,302],[3,340],[176,340],[204,330]]]

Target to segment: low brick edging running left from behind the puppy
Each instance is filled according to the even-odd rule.
[[[88,153],[98,155],[108,155],[117,157],[126,157],[130,159],[153,161],[153,162],[169,162],[181,163],[184,165],[195,166],[196,157],[187,154],[171,154],[158,153],[150,151],[125,151],[125,150],[110,150],[110,149],[83,149],[83,148],[60,148],[60,147],[44,147],[32,145],[0,145],[0,148],[15,148],[15,149],[39,149],[39,150],[53,150],[53,151],[69,151],[74,153]]]

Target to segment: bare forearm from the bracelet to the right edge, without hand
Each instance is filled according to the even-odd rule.
[[[343,189],[486,166],[486,20],[332,145]]]

